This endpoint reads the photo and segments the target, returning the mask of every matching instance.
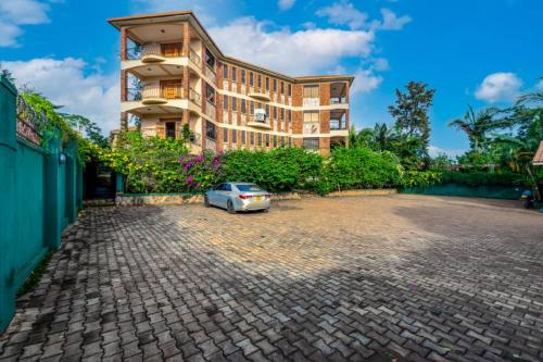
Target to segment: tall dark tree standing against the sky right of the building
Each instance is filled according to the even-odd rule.
[[[395,127],[401,135],[421,139],[424,149],[419,151],[427,154],[430,141],[428,111],[435,90],[421,82],[409,82],[405,88],[405,92],[396,89],[396,101],[389,107],[389,113],[395,118]]]

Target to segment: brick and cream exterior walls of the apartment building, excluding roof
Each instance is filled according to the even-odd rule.
[[[205,149],[222,152],[240,148],[303,147],[304,138],[312,138],[307,143],[315,145],[316,141],[318,145],[316,151],[323,154],[329,153],[332,136],[330,84],[337,83],[336,80],[320,80],[318,77],[315,77],[314,82],[310,79],[311,83],[305,79],[298,80],[241,61],[222,59],[222,54],[206,48],[205,43],[209,41],[201,38],[199,35],[201,33],[192,24],[180,22],[178,25],[182,29],[180,32],[182,50],[179,60],[168,60],[162,65],[167,71],[167,66],[178,64],[177,68],[182,66],[182,72],[179,75],[139,76],[139,78],[146,85],[155,82],[162,98],[167,96],[162,95],[164,89],[160,82],[177,79],[182,88],[180,99],[165,99],[161,104],[152,104],[149,99],[136,101],[129,99],[128,74],[136,72],[129,66],[122,66],[121,100],[124,111],[122,118],[125,120],[122,128],[127,127],[126,113],[131,113],[140,117],[141,132],[149,137],[168,137],[174,134],[175,137],[180,137],[182,125],[189,124],[194,134],[193,152]],[[121,27],[121,58],[126,63],[129,61],[126,55],[130,38],[129,29]],[[213,67],[206,64],[209,53],[215,59]],[[135,65],[137,66],[143,72],[142,66],[147,65]],[[161,66],[161,63],[150,63],[149,70],[155,66]],[[349,85],[349,82],[345,83]],[[315,102],[304,101],[305,86],[318,86]],[[207,95],[209,90],[211,93],[214,92],[213,99]],[[146,103],[150,105],[146,108]],[[265,121],[255,116],[257,109],[265,110]],[[161,113],[161,110],[164,113]],[[307,111],[318,112],[319,129],[316,134],[304,135],[304,112]],[[348,107],[346,114],[349,114]],[[166,129],[172,127],[166,125],[167,122],[175,123],[175,132],[172,128]],[[346,141],[346,133],[334,137],[344,137]]]

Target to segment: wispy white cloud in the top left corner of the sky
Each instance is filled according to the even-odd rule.
[[[49,23],[48,2],[38,0],[0,1],[0,47],[17,47],[22,26]]]

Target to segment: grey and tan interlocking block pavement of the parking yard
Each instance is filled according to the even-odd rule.
[[[543,215],[516,207],[91,209],[18,302],[0,358],[543,361]]]

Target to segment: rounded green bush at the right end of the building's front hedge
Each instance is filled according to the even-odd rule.
[[[353,188],[394,187],[400,183],[400,163],[391,152],[367,148],[337,149],[325,163],[314,186],[319,194]]]

